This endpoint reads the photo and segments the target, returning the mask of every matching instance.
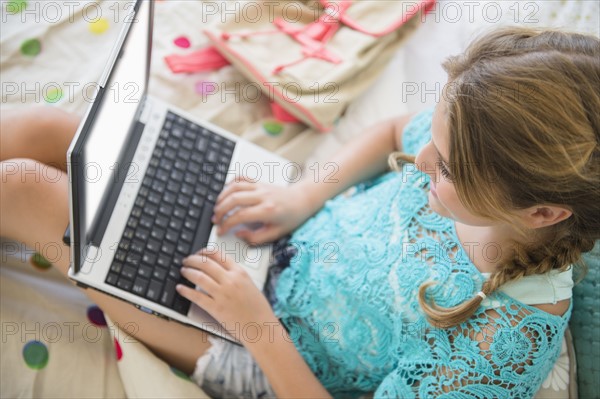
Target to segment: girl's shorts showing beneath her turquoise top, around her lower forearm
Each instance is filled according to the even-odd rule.
[[[295,255],[287,237],[273,245],[274,263],[269,268],[264,294],[273,305],[279,275]],[[211,347],[196,362],[192,379],[213,398],[275,398],[267,377],[243,346],[209,337]]]

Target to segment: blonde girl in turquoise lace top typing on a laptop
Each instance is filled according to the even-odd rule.
[[[267,295],[206,251],[182,268],[203,292],[178,291],[226,326],[252,325],[243,346],[87,293],[214,396],[532,397],[567,327],[571,265],[600,237],[599,60],[594,37],[496,31],[445,62],[435,111],[379,124],[344,149],[335,181],[229,184],[215,207],[220,233],[260,222],[237,234],[279,239]],[[67,177],[6,171],[64,167],[77,121],[27,116],[2,121],[1,157],[12,160],[0,227],[33,247],[60,241]],[[392,152],[397,171],[374,178]],[[66,255],[57,266],[66,272]]]

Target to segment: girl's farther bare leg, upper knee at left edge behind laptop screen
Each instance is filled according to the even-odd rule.
[[[49,106],[2,110],[0,161],[29,158],[67,170],[67,149],[79,121],[76,115]]]

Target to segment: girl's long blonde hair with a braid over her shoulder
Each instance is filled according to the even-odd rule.
[[[544,228],[543,242],[517,245],[482,291],[577,263],[600,238],[600,40],[502,28],[443,66],[449,169],[464,206],[508,222],[514,210],[539,204],[572,211]],[[419,302],[437,326],[468,320],[482,301],[443,308],[427,301],[431,284],[420,287]]]

